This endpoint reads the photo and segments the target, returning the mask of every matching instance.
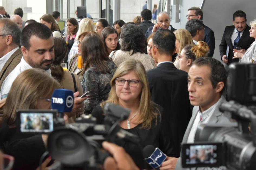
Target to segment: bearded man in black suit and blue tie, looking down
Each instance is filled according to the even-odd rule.
[[[243,11],[236,11],[233,14],[232,22],[234,25],[226,26],[219,45],[221,60],[228,65],[239,61],[238,58],[232,59],[234,57],[233,49],[241,47],[242,52],[245,52],[255,40],[249,36],[251,27],[246,24],[246,14]],[[229,46],[228,58],[226,56],[227,46]]]

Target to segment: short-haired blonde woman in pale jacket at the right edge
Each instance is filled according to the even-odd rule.
[[[234,50],[234,57],[239,58],[239,63],[254,63],[256,64],[256,19],[250,22],[251,29],[250,37],[254,38],[255,41],[251,44],[251,46],[245,51],[242,50]]]

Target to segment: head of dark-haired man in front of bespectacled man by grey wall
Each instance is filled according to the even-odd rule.
[[[193,42],[196,44],[204,38],[203,21],[200,19],[191,19],[186,23],[186,30],[191,34]]]

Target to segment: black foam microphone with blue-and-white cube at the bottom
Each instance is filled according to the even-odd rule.
[[[145,161],[154,169],[160,167],[167,158],[159,148],[155,148],[152,145],[147,145],[142,150],[142,154]]]

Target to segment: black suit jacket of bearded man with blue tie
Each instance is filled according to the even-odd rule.
[[[221,60],[222,60],[222,56],[226,55],[227,46],[229,45],[228,64],[230,64],[232,62],[232,57],[234,57],[233,45],[231,42],[231,36],[232,36],[232,33],[234,32],[234,29],[235,29],[234,25],[226,26],[225,31],[223,33],[221,43],[219,45],[219,52],[221,55]],[[251,38],[249,36],[250,29],[251,29],[251,27],[246,25],[243,35],[241,36],[240,40],[237,43],[237,46],[242,47],[242,49],[245,49],[245,50],[247,50],[249,48],[249,46],[255,40],[254,38]],[[238,60],[239,59],[233,59],[233,62],[238,62]]]

